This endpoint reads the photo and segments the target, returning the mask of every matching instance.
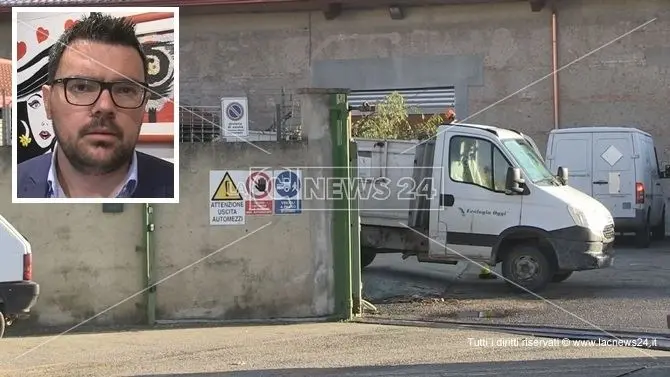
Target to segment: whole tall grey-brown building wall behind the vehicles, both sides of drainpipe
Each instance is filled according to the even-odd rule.
[[[551,73],[551,14],[527,2],[423,7],[405,20],[384,9],[183,17],[181,98],[216,105],[250,96],[251,127],[271,122],[281,87],[452,84],[461,119]],[[670,6],[664,0],[558,4],[561,126],[623,124],[650,131],[670,160],[667,118]],[[197,56],[197,59],[191,57]],[[553,128],[551,77],[469,119],[521,129],[544,150]],[[663,156],[663,154],[661,154]],[[661,157],[659,157],[661,158]]]

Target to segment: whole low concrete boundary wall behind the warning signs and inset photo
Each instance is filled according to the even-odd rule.
[[[210,170],[331,165],[327,96],[319,98],[303,105],[309,142],[181,145],[180,204],[155,210],[156,279],[167,278],[157,287],[158,319],[332,314],[332,212],[321,210],[329,203],[305,201],[298,215],[247,216],[243,226],[209,225]],[[144,295],[128,298],[144,284],[143,206],[109,214],[101,205],[11,204],[10,162],[11,149],[0,148],[0,213],[32,244],[41,284],[33,320],[73,325],[127,299],[92,322],[142,322]]]

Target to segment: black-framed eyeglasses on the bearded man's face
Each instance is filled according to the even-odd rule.
[[[134,81],[105,82],[80,77],[56,79],[54,84],[63,84],[65,100],[76,106],[94,104],[102,91],[107,89],[117,107],[137,109],[144,104],[149,87],[146,83]]]

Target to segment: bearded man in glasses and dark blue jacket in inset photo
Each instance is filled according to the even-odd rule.
[[[173,198],[174,164],[136,150],[151,95],[132,21],[91,13],[51,48],[54,151],[18,165],[19,198]]]

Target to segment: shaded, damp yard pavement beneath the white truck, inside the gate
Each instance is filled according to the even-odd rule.
[[[381,254],[363,271],[363,297],[378,310],[372,318],[669,333],[670,241],[640,249],[620,237],[616,247],[613,267],[576,272],[539,297],[514,293],[501,278],[479,279],[476,265]]]

